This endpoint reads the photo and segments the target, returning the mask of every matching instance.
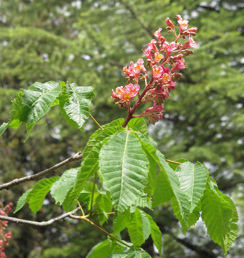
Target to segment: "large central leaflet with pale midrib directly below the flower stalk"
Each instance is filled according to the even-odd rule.
[[[115,210],[133,205],[147,183],[148,160],[138,139],[120,132],[103,145],[99,154],[100,175],[111,194]]]

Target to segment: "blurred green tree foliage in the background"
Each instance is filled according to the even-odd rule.
[[[114,106],[111,89],[125,86],[122,67],[141,58],[146,43],[159,27],[168,42],[165,19],[175,16],[198,27],[199,47],[188,56],[188,68],[171,98],[163,120],[149,126],[167,159],[204,162],[219,189],[238,205],[240,237],[228,257],[243,257],[244,183],[244,4],[241,0],[1,0],[0,9],[0,124],[9,118],[10,100],[19,88],[35,81],[69,81],[95,88],[92,115],[100,124],[126,117]],[[88,121],[82,133],[69,127],[52,108],[32,130],[26,143],[25,128],[7,131],[0,138],[0,181],[8,182],[40,172],[77,151],[83,151],[96,128]],[[55,172],[77,167],[69,164]],[[1,191],[1,201],[13,201],[33,182]],[[18,218],[43,221],[62,213],[49,197],[32,214],[26,207]],[[220,247],[205,237],[202,224],[181,233],[168,203],[155,209],[163,233],[164,257],[224,257]],[[112,232],[110,223],[106,229]],[[36,229],[13,225],[7,257],[85,257],[106,238],[90,225],[59,221]],[[123,239],[128,233],[123,231]],[[142,246],[157,257],[152,241]],[[203,253],[206,251],[206,254]],[[204,256],[205,255],[205,256]]]

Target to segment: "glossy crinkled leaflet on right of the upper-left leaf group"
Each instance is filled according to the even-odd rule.
[[[66,92],[69,100],[63,108],[68,117],[78,124],[79,129],[83,129],[85,121],[89,118],[92,99],[95,97],[93,88],[66,83]]]

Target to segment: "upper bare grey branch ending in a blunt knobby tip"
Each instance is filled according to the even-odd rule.
[[[25,183],[25,182],[29,182],[29,181],[34,181],[34,180],[37,180],[45,175],[48,175],[50,174],[51,172],[54,172],[55,170],[57,170],[58,168],[70,163],[70,162],[73,162],[73,161],[79,161],[82,159],[82,154],[81,152],[77,152],[74,156],[60,162],[59,164],[56,164],[55,166],[53,167],[50,167],[40,173],[37,173],[35,175],[29,175],[29,176],[26,176],[26,177],[23,177],[23,178],[19,178],[19,179],[14,179],[13,181],[9,182],[9,183],[5,183],[5,184],[2,184],[0,185],[0,191],[3,190],[3,189],[9,189],[10,187],[13,187],[13,186],[16,186],[16,185],[19,185],[19,184],[22,184],[22,183]]]

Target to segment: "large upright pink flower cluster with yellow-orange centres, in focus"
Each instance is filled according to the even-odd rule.
[[[147,117],[149,123],[155,124],[162,119],[163,103],[166,98],[169,98],[169,92],[176,88],[176,81],[178,81],[182,74],[175,72],[187,67],[183,56],[189,56],[193,54],[193,51],[188,48],[196,48],[197,43],[191,36],[195,36],[197,28],[188,29],[188,20],[183,20],[180,15],[176,16],[178,20],[178,26],[180,31],[178,35],[175,31],[175,26],[169,18],[166,18],[166,30],[169,33],[173,33],[175,41],[167,42],[161,35],[162,29],[159,28],[154,32],[154,36],[159,40],[152,39],[147,44],[147,48],[143,50],[144,56],[147,58],[146,67],[151,71],[147,72],[144,67],[143,59],[139,58],[134,64],[130,62],[130,67],[123,67],[123,74],[127,75],[126,80],[128,85],[125,87],[120,86],[116,88],[116,92],[112,90],[111,98],[114,98],[115,105],[123,109],[127,109],[129,113],[129,119],[133,117]],[[188,37],[188,41],[184,44],[178,42],[180,38],[185,39]],[[151,76],[149,83],[147,79]],[[138,81],[145,81],[145,88],[140,94]],[[138,95],[138,99],[134,106],[130,107],[130,102]],[[137,107],[143,103],[153,101],[153,106],[147,108],[140,115],[134,115],[133,113]]]

